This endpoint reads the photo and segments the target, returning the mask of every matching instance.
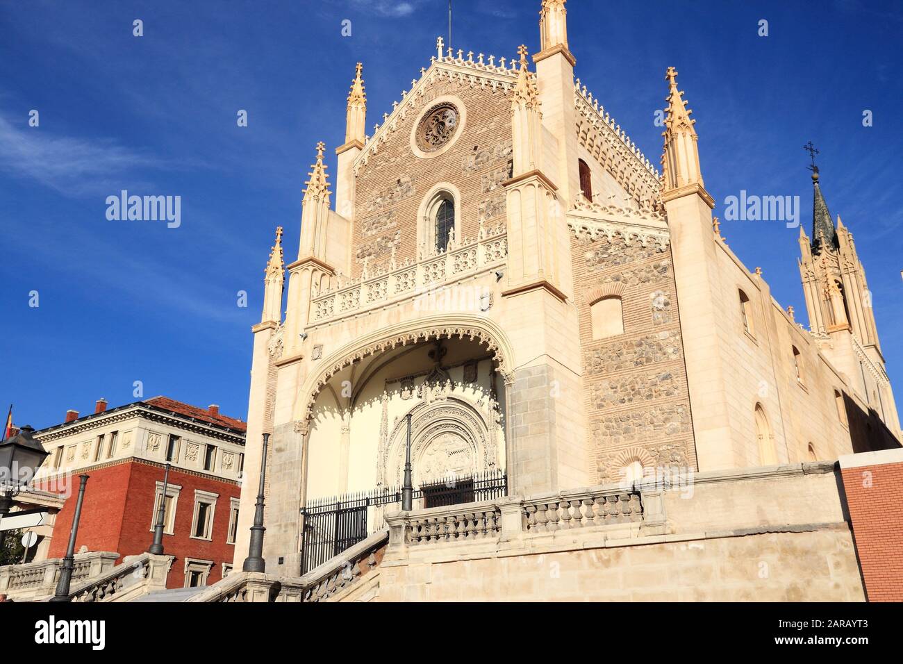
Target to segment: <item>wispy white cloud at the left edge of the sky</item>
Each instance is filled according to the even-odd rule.
[[[0,170],[30,178],[73,196],[109,192],[124,173],[163,168],[162,159],[116,143],[54,135],[24,122],[14,126],[0,117]]]

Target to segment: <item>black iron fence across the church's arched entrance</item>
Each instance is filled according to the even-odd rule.
[[[414,490],[414,510],[459,505],[507,496],[507,474],[489,471],[422,484]],[[308,502],[301,510],[301,573],[363,541],[383,527],[383,513],[401,509],[401,488],[347,493]]]

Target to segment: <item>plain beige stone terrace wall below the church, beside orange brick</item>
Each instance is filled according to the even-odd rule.
[[[656,489],[641,489],[639,523],[572,523],[553,532],[517,528],[517,520],[508,531],[511,512],[499,503],[498,537],[401,546],[390,535],[377,599],[861,602],[833,466],[697,473],[657,494],[665,517],[659,528],[649,528],[654,519],[647,519]],[[605,491],[592,487],[582,495]],[[560,499],[523,504],[554,500]],[[411,522],[417,518],[410,514]]]

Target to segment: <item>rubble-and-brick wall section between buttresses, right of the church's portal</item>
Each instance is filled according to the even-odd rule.
[[[572,253],[596,481],[618,480],[634,461],[695,470],[670,248],[573,237]],[[621,294],[624,333],[594,341],[590,305],[600,287]]]

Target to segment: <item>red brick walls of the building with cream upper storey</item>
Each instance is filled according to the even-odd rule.
[[[151,530],[155,517],[154,491],[156,482],[163,482],[163,467],[130,460],[86,472],[90,479],[85,489],[75,550],[78,552],[84,545],[89,551],[116,551],[120,556],[146,551],[154,539]],[[175,556],[166,585],[169,588],[184,585],[185,557],[212,560],[208,583],[216,583],[222,578],[222,564],[231,563],[234,557],[235,547],[226,544],[229,499],[238,498],[240,489],[235,482],[176,469],[170,471],[170,482],[181,486],[182,491],[176,504],[174,533],[163,536],[165,552]],[[78,476],[73,476],[71,496],[57,516],[48,557],[66,554],[78,484]],[[219,494],[213,513],[212,541],[191,538],[196,489]]]

